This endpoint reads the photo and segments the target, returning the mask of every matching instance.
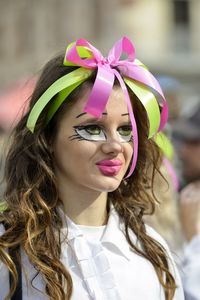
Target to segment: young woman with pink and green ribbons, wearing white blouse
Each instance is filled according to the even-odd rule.
[[[161,93],[127,38],[106,59],[78,40],[44,68],[6,160],[0,299],[184,299],[143,222],[166,113],[147,85]]]

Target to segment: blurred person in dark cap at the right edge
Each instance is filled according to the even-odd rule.
[[[186,245],[182,279],[186,300],[200,300],[200,103],[174,124],[181,161],[180,217]]]

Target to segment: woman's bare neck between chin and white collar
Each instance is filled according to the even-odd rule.
[[[64,212],[75,223],[86,226],[102,226],[107,223],[107,193],[91,191],[83,187],[59,184],[59,197]]]

